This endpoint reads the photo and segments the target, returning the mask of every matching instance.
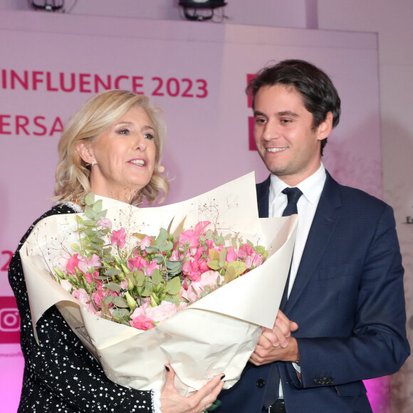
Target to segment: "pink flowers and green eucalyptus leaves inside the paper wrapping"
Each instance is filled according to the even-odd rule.
[[[70,246],[75,253],[66,268],[53,267],[55,279],[88,312],[139,330],[154,328],[268,256],[239,234],[209,229],[209,221],[183,231],[183,220],[174,233],[161,228],[157,236],[133,233],[135,244],[127,246],[125,228],[113,229],[102,199],[95,202],[90,193],[84,204],[85,216],[76,216],[79,239]]]

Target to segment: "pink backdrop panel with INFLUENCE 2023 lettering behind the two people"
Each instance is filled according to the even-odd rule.
[[[247,79],[267,63],[311,61],[343,101],[325,166],[382,197],[373,33],[1,11],[0,56],[0,413],[16,411],[23,368],[8,263],[51,206],[63,125],[94,93],[134,90],[162,106],[172,203],[251,171],[257,182],[267,176],[251,147]],[[375,413],[388,412],[390,379],[366,385]]]

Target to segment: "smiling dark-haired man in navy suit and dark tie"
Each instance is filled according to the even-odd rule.
[[[294,187],[299,224],[288,300],[215,412],[372,412],[362,380],[397,372],[410,352],[392,208],[323,167],[340,98],[322,70],[283,61],[248,91],[256,147],[271,172],[257,185],[260,216],[281,216],[284,189]]]

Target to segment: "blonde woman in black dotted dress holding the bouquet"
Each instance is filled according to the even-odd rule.
[[[107,90],[90,98],[63,132],[58,144],[56,204],[37,221],[82,211],[81,199],[90,191],[129,204],[144,198],[152,203],[160,194],[166,196],[169,187],[159,168],[165,131],[162,110],[143,95]],[[165,366],[166,379],[160,391],[116,385],[55,306],[37,324],[37,345],[19,249],[9,266],[9,281],[21,316],[25,358],[18,412],[199,413],[211,406],[221,391],[224,382],[219,375],[191,397],[180,396],[170,365]]]

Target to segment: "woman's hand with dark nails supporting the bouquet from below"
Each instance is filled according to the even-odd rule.
[[[202,413],[211,407],[224,386],[222,379],[225,375],[217,375],[192,396],[182,397],[174,384],[174,370],[169,364],[165,367],[167,368],[166,379],[161,390],[162,413]]]

